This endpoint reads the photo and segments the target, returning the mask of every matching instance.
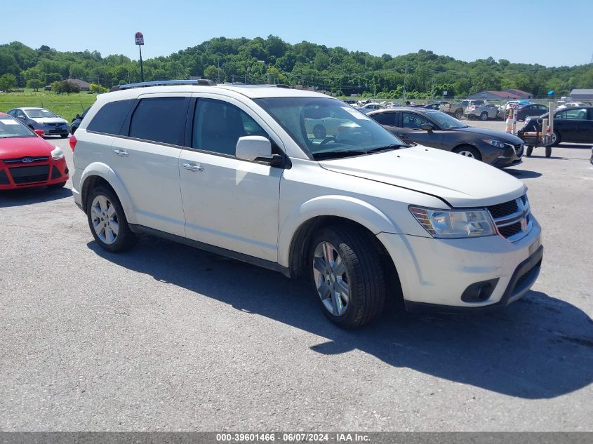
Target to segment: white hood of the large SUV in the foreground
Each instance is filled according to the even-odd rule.
[[[526,191],[523,182],[498,168],[421,145],[319,164],[336,173],[437,196],[453,207],[490,206]]]

